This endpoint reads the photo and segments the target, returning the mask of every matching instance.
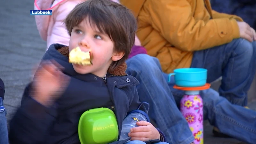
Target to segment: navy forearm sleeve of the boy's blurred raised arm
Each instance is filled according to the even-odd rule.
[[[42,144],[56,119],[56,107],[44,107],[29,95],[29,86],[23,93],[22,104],[10,121],[11,144]]]

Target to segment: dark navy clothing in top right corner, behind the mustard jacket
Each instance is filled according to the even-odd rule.
[[[211,5],[212,9],[217,12],[241,17],[252,28],[256,29],[255,0],[211,0]]]

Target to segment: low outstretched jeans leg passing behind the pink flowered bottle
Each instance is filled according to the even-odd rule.
[[[163,74],[166,81],[168,75]],[[177,102],[180,102],[184,91],[173,89],[174,79],[168,83]],[[220,129],[220,132],[248,143],[256,141],[256,112],[239,105],[231,104],[213,89],[200,92],[204,104],[204,119]]]

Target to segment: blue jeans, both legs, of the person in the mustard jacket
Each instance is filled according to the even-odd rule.
[[[255,75],[255,51],[255,41],[235,39],[228,44],[195,52],[191,64],[191,67],[208,69],[208,83],[222,76],[219,93],[213,89],[200,92],[204,119],[218,127],[220,132],[248,143],[256,141],[256,112],[241,106],[247,105],[247,91]],[[168,75],[163,75],[168,80]],[[173,89],[174,83],[174,77],[171,77],[169,86],[180,107],[184,91]]]

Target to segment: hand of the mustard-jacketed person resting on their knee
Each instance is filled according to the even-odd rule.
[[[253,32],[251,27],[245,23],[245,22],[237,22],[239,31],[240,31],[240,37],[247,39],[249,42],[253,41]]]

